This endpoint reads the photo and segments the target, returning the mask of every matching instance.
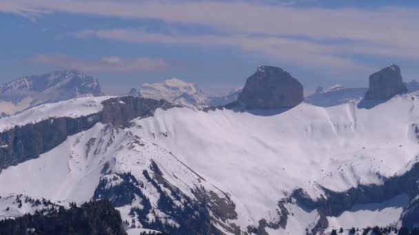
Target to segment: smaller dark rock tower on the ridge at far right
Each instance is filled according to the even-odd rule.
[[[398,94],[407,93],[400,67],[389,65],[369,76],[367,100],[388,100]]]

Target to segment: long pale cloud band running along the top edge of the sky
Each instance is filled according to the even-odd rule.
[[[4,0],[11,12],[70,12],[119,18],[156,19],[248,34],[347,38],[388,45],[418,45],[418,9],[296,8],[240,1]]]

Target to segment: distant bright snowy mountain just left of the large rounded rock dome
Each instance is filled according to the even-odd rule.
[[[163,99],[187,106],[218,106],[235,101],[241,90],[242,88],[238,88],[218,96],[210,96],[194,83],[171,78],[161,83],[145,83],[139,89],[132,88],[127,95]]]

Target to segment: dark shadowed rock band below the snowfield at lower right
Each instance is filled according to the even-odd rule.
[[[406,203],[400,221],[402,226],[407,228],[414,227],[418,223],[419,206],[418,206],[418,179],[419,164],[414,164],[411,170],[404,175],[396,175],[394,177],[383,178],[382,185],[360,185],[357,188],[350,188],[344,192],[335,192],[323,188],[325,196],[314,201],[301,190],[295,190],[290,198],[295,199],[298,205],[309,210],[318,210],[324,216],[339,216],[343,212],[350,210],[355,205],[368,203],[382,203],[384,201],[398,198],[398,203],[402,205]],[[406,195],[406,201],[403,202],[401,195]],[[287,203],[284,201],[283,203]],[[327,223],[323,221],[323,224]],[[324,227],[324,226],[323,226]],[[327,226],[326,226],[327,227]]]

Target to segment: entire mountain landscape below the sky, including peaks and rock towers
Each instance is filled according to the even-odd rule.
[[[389,65],[307,97],[278,67],[243,83],[103,96],[57,71],[2,85],[0,234],[416,231],[417,82]]]

